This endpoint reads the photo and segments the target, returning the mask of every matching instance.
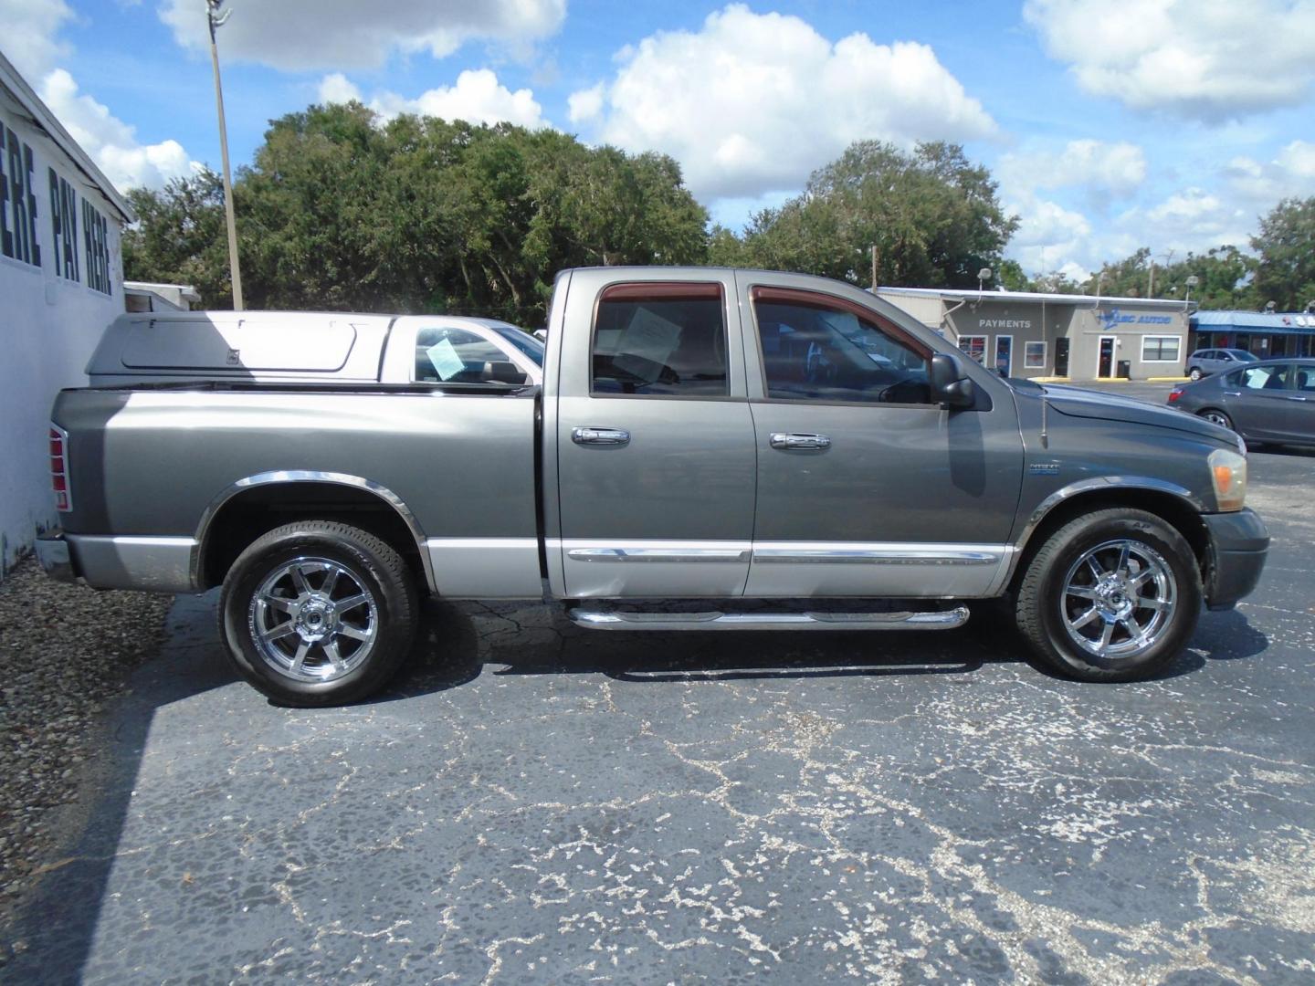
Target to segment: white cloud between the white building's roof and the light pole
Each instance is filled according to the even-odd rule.
[[[116,188],[159,188],[199,167],[178,141],[138,143],[134,128],[91,96],[79,93],[78,83],[63,68],[41,80],[39,95]]]

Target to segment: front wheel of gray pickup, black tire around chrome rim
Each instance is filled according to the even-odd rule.
[[[1111,584],[1110,596],[1102,597],[1101,602],[1090,601],[1091,611],[1086,611],[1088,598],[1065,592],[1082,578],[1076,575],[1077,565],[1085,563],[1085,556],[1093,551],[1098,552],[1098,567],[1107,565],[1111,557],[1122,560],[1118,546],[1123,543],[1136,546],[1123,555],[1123,559],[1132,559],[1131,563],[1123,561],[1123,571],[1131,572],[1132,565],[1137,565],[1137,576],[1151,581],[1147,596],[1157,593],[1170,602],[1165,605],[1159,596],[1140,598],[1141,590],[1130,590],[1124,581],[1122,588]],[[1115,547],[1109,548],[1111,553],[1102,556],[1099,550],[1106,544]],[[1082,572],[1093,585],[1080,592],[1095,592],[1095,576],[1085,568]],[[1172,581],[1166,576],[1157,578],[1160,572],[1172,573]],[[1115,580],[1118,577],[1118,572],[1112,569],[1107,575]],[[1137,602],[1156,605],[1153,609],[1134,605],[1134,596],[1139,597]],[[1126,653],[1106,656],[1080,646],[1073,636],[1103,634],[1103,627],[1111,622],[1105,614],[1123,611],[1115,610],[1111,599],[1118,601],[1119,606],[1131,607],[1131,623],[1114,623],[1116,636],[1106,638],[1105,644],[1115,651],[1126,647]],[[1036,656],[1059,673],[1081,681],[1136,681],[1161,672],[1181,653],[1197,626],[1201,603],[1201,572],[1186,539],[1155,514],[1111,507],[1078,517],[1045,540],[1023,575],[1015,596],[1014,614],[1019,631]],[[1156,613],[1160,611],[1166,611],[1168,615],[1157,621]],[[1095,626],[1090,631],[1086,627],[1070,630],[1084,617]],[[1127,627],[1136,626],[1140,630],[1143,621],[1147,623],[1148,639],[1139,647]],[[1156,627],[1153,634],[1149,634],[1151,627]],[[1097,640],[1089,640],[1090,647],[1098,644]]]

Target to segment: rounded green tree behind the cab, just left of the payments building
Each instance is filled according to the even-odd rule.
[[[802,195],[757,213],[743,247],[764,267],[867,285],[874,246],[884,284],[968,288],[999,264],[1016,227],[990,172],[963,147],[920,143],[909,154],[860,141],[815,171]]]

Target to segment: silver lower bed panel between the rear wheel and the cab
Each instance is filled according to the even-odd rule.
[[[430,538],[425,556],[446,598],[543,598],[538,538]]]

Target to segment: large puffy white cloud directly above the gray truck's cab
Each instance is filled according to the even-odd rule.
[[[860,138],[907,146],[995,133],[928,46],[867,34],[831,43],[798,17],[742,4],[698,32],[652,34],[617,60],[601,91],[575,93],[572,120],[596,110],[601,139],[671,154],[705,197],[797,189]]]

